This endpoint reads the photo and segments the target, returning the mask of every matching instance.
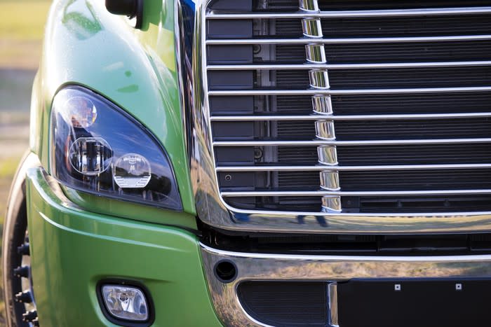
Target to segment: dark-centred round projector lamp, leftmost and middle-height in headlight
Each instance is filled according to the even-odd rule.
[[[101,137],[81,137],[70,146],[68,157],[77,172],[95,176],[111,165],[112,150]]]

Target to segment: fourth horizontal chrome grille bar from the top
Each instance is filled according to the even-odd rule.
[[[394,88],[371,90],[213,90],[208,95],[405,95],[416,93],[487,92],[491,86],[465,88]]]

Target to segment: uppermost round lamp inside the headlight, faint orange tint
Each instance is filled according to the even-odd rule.
[[[76,128],[90,127],[97,119],[97,109],[86,97],[71,97],[65,102],[66,113],[72,126]]]

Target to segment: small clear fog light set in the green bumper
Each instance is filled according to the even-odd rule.
[[[123,285],[102,286],[107,310],[112,316],[128,321],[146,321],[149,319],[147,299],[140,288]]]

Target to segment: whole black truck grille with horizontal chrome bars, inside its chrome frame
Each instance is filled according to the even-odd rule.
[[[491,209],[491,1],[215,0],[206,81],[234,209]]]

